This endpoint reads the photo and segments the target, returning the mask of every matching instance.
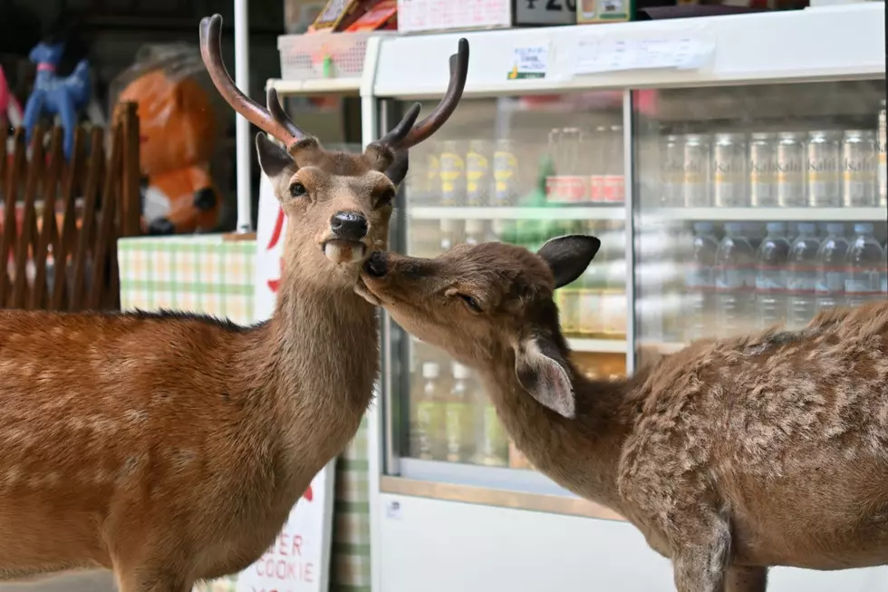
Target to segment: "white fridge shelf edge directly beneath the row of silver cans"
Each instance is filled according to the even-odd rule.
[[[644,224],[661,220],[884,222],[885,208],[663,208],[642,209]]]

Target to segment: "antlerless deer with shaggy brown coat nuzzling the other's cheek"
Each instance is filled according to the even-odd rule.
[[[888,563],[888,302],[705,340],[586,379],[552,300],[600,242],[377,253],[362,293],[478,370],[536,468],[623,514],[680,592],[762,592],[769,566]]]

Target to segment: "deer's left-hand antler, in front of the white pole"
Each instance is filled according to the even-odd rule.
[[[221,15],[205,16],[200,20],[200,57],[203,58],[204,65],[207,66],[209,76],[216,84],[218,92],[247,121],[284,142],[288,148],[307,135],[286,116],[275,89],[268,89],[268,109],[266,110],[235,86],[235,82],[228,75],[225,63],[222,62]]]

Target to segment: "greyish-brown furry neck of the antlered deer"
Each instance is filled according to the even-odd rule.
[[[300,280],[282,278],[253,375],[271,386],[285,461],[314,476],[358,430],[372,400],[379,338],[374,307],[351,289]]]

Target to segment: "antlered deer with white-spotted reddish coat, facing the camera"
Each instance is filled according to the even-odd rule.
[[[186,592],[246,568],[315,473],[357,431],[378,365],[360,266],[386,245],[406,150],[459,101],[415,105],[361,155],[330,152],[236,90],[221,17],[200,24],[219,92],[260,133],[259,161],[292,220],[268,322],[188,314],[0,312],[0,578],[114,570],[121,592]]]

